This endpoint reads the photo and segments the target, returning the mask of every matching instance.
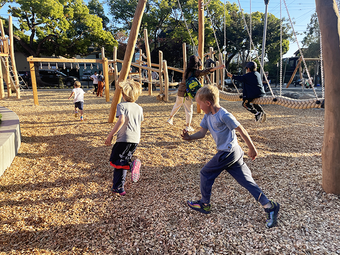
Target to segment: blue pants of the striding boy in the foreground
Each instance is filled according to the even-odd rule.
[[[211,188],[215,179],[223,170],[245,187],[261,205],[268,204],[269,199],[255,183],[252,173],[243,161],[243,151],[236,146],[232,152],[218,151],[215,156],[201,170],[201,202],[210,203]]]

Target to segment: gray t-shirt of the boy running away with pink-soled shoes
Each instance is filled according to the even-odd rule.
[[[121,102],[117,104],[116,117],[119,115],[125,116],[125,122],[117,133],[116,142],[139,143],[143,108],[135,102]]]

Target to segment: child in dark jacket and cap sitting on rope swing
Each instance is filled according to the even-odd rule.
[[[264,90],[260,74],[256,71],[257,64],[250,61],[246,65],[247,73],[245,75],[233,75],[227,73],[228,77],[232,77],[236,81],[243,82],[243,103],[242,106],[255,115],[256,122],[265,122],[267,114],[264,112],[261,105],[253,103],[255,98],[264,97]]]

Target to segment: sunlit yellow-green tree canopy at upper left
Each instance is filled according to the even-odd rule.
[[[26,56],[85,56],[105,47],[113,51],[118,42],[103,30],[102,18],[89,13],[82,0],[16,0],[9,13],[17,17],[14,29],[19,51]],[[92,2],[96,3],[95,0]],[[8,34],[8,29],[5,30]]]

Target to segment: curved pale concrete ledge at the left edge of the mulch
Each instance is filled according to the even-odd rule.
[[[21,144],[20,121],[17,114],[0,106],[0,176],[12,164]]]

